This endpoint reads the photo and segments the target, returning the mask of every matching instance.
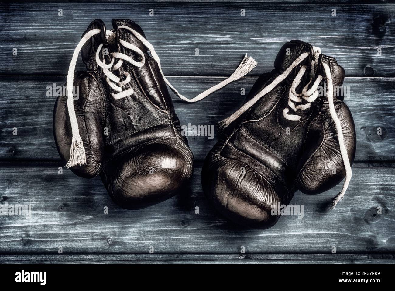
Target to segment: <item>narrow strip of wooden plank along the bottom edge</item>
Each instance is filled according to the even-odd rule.
[[[191,254],[155,254],[155,255],[118,255],[118,254],[97,254],[97,255],[2,255],[0,263],[393,263],[393,254],[245,254],[245,255],[191,255]]]

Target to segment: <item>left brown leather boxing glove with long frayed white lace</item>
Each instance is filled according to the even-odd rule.
[[[100,175],[117,204],[139,209],[169,198],[192,175],[192,152],[166,84],[194,102],[241,78],[256,62],[245,57],[226,84],[187,99],[167,81],[141,27],[127,19],[112,25],[106,30],[96,19],[84,32],[70,63],[68,96],[55,103],[53,130],[71,171]],[[87,71],[74,74],[79,51]],[[75,100],[72,86],[79,88]]]

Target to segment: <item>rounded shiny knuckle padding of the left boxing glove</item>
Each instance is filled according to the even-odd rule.
[[[151,143],[105,165],[102,175],[114,202],[140,209],[173,196],[192,175],[189,155],[164,143]]]

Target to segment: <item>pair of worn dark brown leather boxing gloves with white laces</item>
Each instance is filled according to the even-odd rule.
[[[107,30],[96,19],[83,33],[70,63],[67,96],[55,103],[53,129],[71,171],[100,175],[115,203],[139,209],[174,195],[193,172],[167,86],[195,102],[256,62],[245,57],[228,79],[187,99],[168,82],[136,23],[113,19],[112,25]],[[79,51],[87,70],[74,73]],[[289,204],[296,190],[318,194],[346,177],[331,208],[342,200],[356,143],[350,110],[333,91],[343,80],[344,69],[319,48],[284,44],[275,69],[262,74],[243,107],[220,123],[218,143],[203,165],[203,190],[222,215],[268,228],[279,218],[273,207]]]

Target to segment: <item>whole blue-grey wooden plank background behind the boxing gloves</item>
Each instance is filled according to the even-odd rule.
[[[32,204],[33,213],[0,216],[0,262],[393,262],[395,4],[332,2],[1,3],[0,203]],[[202,192],[201,165],[216,140],[207,137],[188,138],[196,159],[188,188],[146,209],[119,208],[99,178],[82,179],[66,168],[59,175],[64,163],[52,133],[55,98],[46,88],[64,84],[73,50],[96,18],[109,29],[111,18],[136,21],[170,82],[189,97],[229,76],[245,53],[258,61],[247,77],[199,103],[173,95],[185,125],[214,125],[237,110],[245,97],[241,87],[248,93],[289,40],[335,57],[346,70],[346,103],[357,132],[345,199],[328,211],[341,185],[317,196],[297,192],[292,203],[304,204],[303,219],[282,217],[269,230],[235,226],[218,217]],[[81,61],[77,69],[84,69]]]

